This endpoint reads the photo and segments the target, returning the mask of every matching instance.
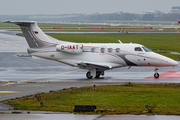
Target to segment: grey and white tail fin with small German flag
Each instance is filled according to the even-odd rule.
[[[38,27],[35,21],[31,22],[13,22],[6,21],[5,23],[13,23],[19,25],[27,43],[30,48],[41,48],[50,45],[56,45],[44,34],[44,32]]]

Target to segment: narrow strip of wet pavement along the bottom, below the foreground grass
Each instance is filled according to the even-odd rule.
[[[74,114],[8,114],[1,120],[178,120],[179,116],[146,115],[74,115]]]

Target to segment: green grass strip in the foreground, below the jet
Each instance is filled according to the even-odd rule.
[[[114,109],[103,114],[180,115],[180,84],[133,84],[81,87],[48,94],[38,94],[39,99],[19,98],[9,101],[15,109],[73,112],[74,105],[96,105],[97,109]],[[40,101],[44,107],[40,107]],[[97,114],[93,112],[90,114]],[[101,113],[102,114],[102,113]]]

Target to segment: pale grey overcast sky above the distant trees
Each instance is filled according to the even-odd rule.
[[[0,0],[0,15],[169,12],[180,0]]]

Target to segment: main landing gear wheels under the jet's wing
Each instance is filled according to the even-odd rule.
[[[94,74],[95,73],[95,74]],[[90,71],[88,71],[87,73],[86,73],[86,77],[88,78],[88,79],[92,79],[93,77],[95,77],[95,78],[99,78],[100,77],[100,75],[104,75],[104,71],[94,71],[94,70],[90,70]]]

